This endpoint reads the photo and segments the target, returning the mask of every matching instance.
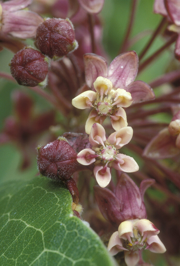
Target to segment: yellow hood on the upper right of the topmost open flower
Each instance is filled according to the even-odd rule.
[[[126,92],[124,89],[115,90],[115,98],[113,105],[117,107],[128,107],[133,102],[130,92]]]

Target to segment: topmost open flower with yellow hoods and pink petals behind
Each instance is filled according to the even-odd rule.
[[[154,98],[154,92],[143,81],[134,81],[138,72],[138,56],[129,51],[118,55],[109,65],[93,53],[84,55],[85,81],[91,90],[81,93],[72,100],[79,109],[91,108],[85,131],[90,133],[94,123],[102,124],[111,118],[114,130],[127,126],[126,113],[122,107],[131,103]],[[95,92],[96,91],[96,92]]]

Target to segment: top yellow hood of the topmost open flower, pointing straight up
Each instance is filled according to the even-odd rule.
[[[93,85],[96,92],[101,95],[101,99],[103,94],[107,95],[112,90],[112,82],[107,78],[97,77]]]

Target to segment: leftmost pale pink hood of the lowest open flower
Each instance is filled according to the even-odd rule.
[[[114,232],[110,237],[107,249],[112,256],[116,255],[120,251],[126,250],[122,246],[121,239],[118,236],[118,231]]]

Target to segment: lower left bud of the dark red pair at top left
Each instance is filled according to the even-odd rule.
[[[11,75],[20,85],[34,87],[45,80],[48,63],[41,52],[25,48],[13,56],[10,70]]]

